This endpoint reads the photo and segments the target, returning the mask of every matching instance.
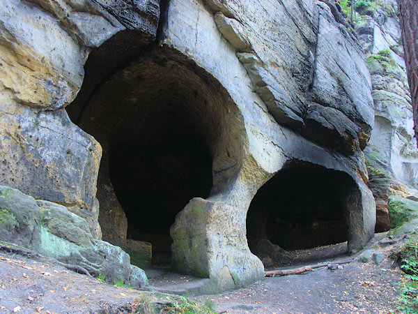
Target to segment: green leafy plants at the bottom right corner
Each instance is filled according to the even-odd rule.
[[[401,260],[401,269],[405,278],[399,283],[398,310],[401,313],[418,313],[418,237],[412,234],[410,239],[399,246],[394,256]]]

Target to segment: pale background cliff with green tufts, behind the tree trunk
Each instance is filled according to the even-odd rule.
[[[418,187],[418,150],[401,28],[396,1],[386,4],[366,10],[368,15],[357,17],[355,22],[373,89],[375,126],[364,152],[369,163],[368,185],[376,199],[378,232],[390,227],[389,195],[405,195],[402,186]]]

